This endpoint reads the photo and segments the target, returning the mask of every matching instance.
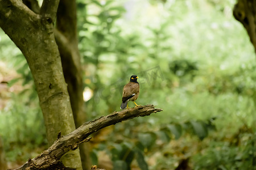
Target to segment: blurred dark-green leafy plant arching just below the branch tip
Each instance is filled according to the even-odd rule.
[[[148,128],[148,125],[144,126],[148,129],[137,131],[138,128],[143,129],[141,123],[143,123],[142,119],[124,122],[122,125],[125,125],[125,130],[122,129],[122,125],[115,125],[117,127],[114,128],[114,133],[108,137],[108,142],[101,143],[101,147],[98,147],[93,153],[97,155],[98,151],[110,150],[109,155],[112,158],[114,169],[131,169],[134,165],[143,170],[152,169],[152,167],[148,167],[147,156],[158,151],[159,148],[164,148],[171,140],[175,141],[188,134],[195,134],[198,138],[203,139],[215,128],[213,121],[210,120],[181,124],[170,123],[162,125],[160,129]],[[191,129],[195,133],[191,132]]]

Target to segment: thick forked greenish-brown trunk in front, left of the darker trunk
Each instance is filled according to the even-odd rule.
[[[39,14],[35,14],[21,1],[0,1],[0,27],[27,59],[38,92],[49,145],[55,141],[59,131],[66,135],[75,129],[53,34],[58,5],[59,1],[44,0]],[[67,167],[81,169],[79,150],[68,152],[62,159]]]

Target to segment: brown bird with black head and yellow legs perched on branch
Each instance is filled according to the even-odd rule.
[[[129,108],[127,105],[128,101],[133,101],[136,105],[135,107],[139,106],[135,103],[135,100],[137,100],[139,96],[139,82],[137,82],[138,78],[139,77],[137,75],[132,75],[130,82],[123,87],[122,104],[120,107],[121,109],[125,109],[126,106]]]

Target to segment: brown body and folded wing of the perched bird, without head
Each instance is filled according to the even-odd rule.
[[[129,98],[129,96],[133,97]],[[123,100],[130,99],[130,100],[136,100],[139,96],[139,84],[134,82],[129,82],[123,87]]]

